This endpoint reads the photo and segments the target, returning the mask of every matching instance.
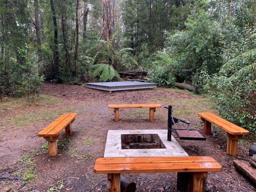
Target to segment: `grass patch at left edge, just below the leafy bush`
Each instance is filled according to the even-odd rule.
[[[33,102],[30,102],[26,97],[8,97],[7,101],[0,103],[0,110],[16,109],[25,106],[33,105],[54,105],[60,103],[61,98],[54,97],[51,95],[40,95],[39,100],[35,99]]]

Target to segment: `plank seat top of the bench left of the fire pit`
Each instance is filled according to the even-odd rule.
[[[38,133],[38,136],[53,137],[57,136],[67,125],[77,116],[77,113],[66,113],[48,125],[45,129]]]

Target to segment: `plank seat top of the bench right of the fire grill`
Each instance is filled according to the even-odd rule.
[[[224,131],[228,132],[232,135],[248,135],[249,131],[238,127],[237,125],[234,125],[231,122],[228,122],[214,114],[211,113],[198,113],[200,117],[203,119],[211,122],[212,124],[216,125],[217,127],[220,127]],[[232,127],[231,127],[232,126]]]

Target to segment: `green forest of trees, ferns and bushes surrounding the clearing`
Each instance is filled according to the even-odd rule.
[[[148,70],[256,132],[255,24],[256,0],[0,0],[0,100]]]

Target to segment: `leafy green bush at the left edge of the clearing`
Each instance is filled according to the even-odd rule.
[[[39,96],[44,76],[39,75],[36,64],[36,53],[32,45],[18,48],[19,58],[0,61],[0,87],[1,92],[8,94],[14,92],[16,96],[26,96],[33,100]],[[19,59],[19,61],[17,61]]]

